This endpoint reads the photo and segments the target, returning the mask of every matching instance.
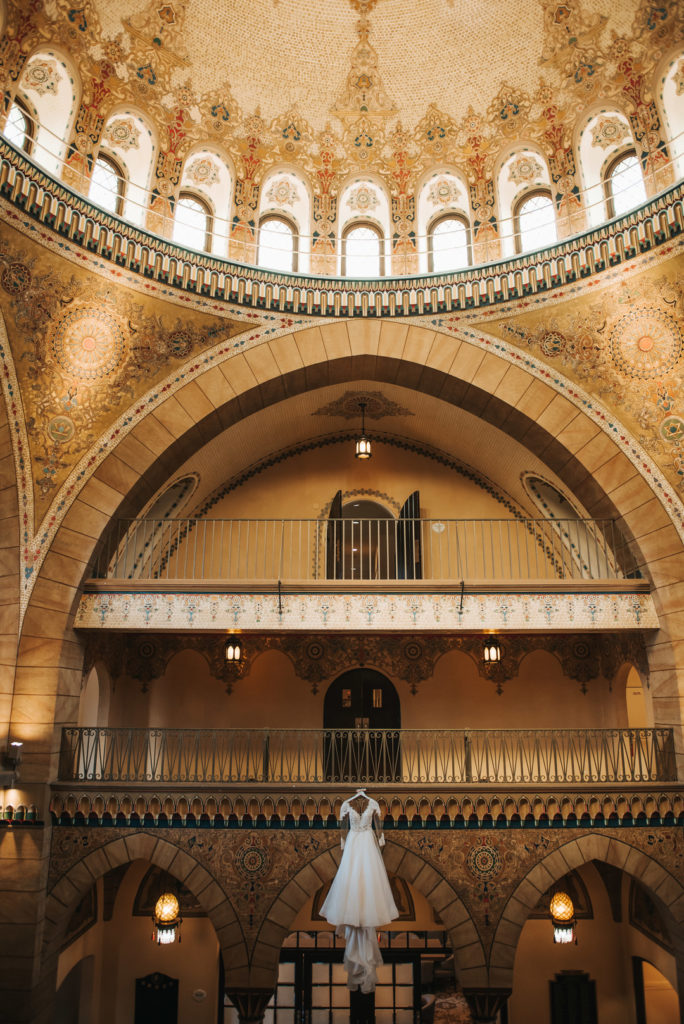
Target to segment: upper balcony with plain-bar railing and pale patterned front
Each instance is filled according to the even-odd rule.
[[[81,628],[657,628],[611,519],[125,519],[85,590]]]

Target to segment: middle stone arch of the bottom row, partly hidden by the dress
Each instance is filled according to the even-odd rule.
[[[392,842],[389,837],[383,859],[387,870],[415,886],[441,918],[454,950],[455,969],[461,984],[468,988],[486,986],[487,967],[482,940],[448,879],[412,850]],[[339,860],[339,848],[327,850],[302,867],[281,891],[268,910],[254,945],[251,985],[273,988],[281,946],[291,931],[293,921],[307,899],[322,885],[331,881]]]

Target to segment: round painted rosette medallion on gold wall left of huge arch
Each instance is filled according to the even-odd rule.
[[[71,377],[95,381],[113,373],[126,351],[124,333],[103,309],[72,309],[59,319],[52,336],[52,353]]]

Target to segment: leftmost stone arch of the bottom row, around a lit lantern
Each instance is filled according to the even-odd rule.
[[[191,854],[159,835],[131,831],[113,838],[73,864],[47,894],[41,987],[49,990],[61,940],[79,900],[113,867],[143,859],[182,882],[214,926],[225,967],[226,986],[241,984],[248,963],[242,925],[220,884]]]

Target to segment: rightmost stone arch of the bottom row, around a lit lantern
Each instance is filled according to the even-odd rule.
[[[653,857],[624,838],[592,833],[568,840],[542,858],[522,879],[504,907],[489,954],[490,984],[512,988],[515,951],[530,910],[554,882],[590,860],[604,860],[638,879],[671,926],[684,1021],[684,885]]]

